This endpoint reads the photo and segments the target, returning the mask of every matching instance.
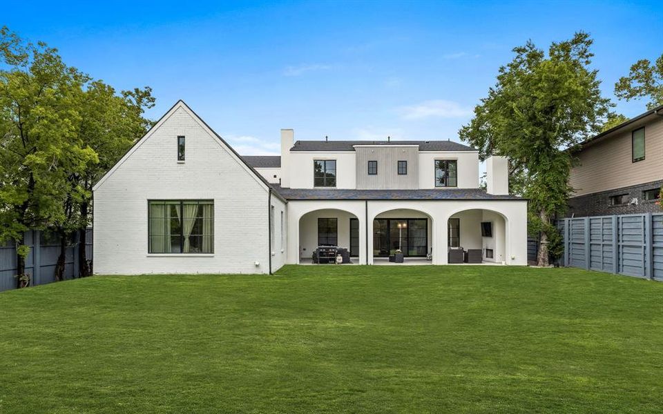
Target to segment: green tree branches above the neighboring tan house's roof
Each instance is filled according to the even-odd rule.
[[[640,59],[633,63],[628,76],[615,83],[615,95],[619,99],[648,99],[647,109],[663,105],[663,54],[651,63]]]

